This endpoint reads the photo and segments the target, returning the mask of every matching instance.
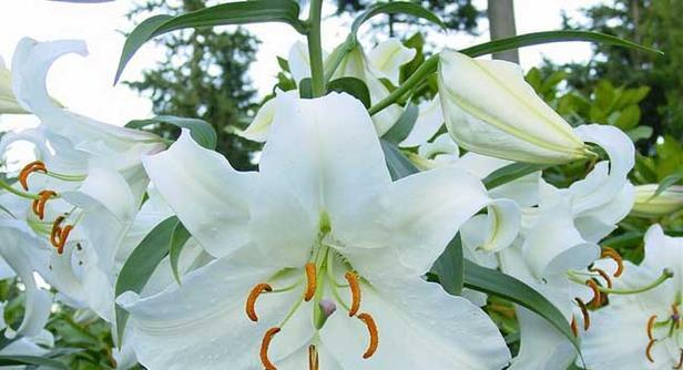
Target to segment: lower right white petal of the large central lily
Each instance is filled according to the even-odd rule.
[[[462,297],[431,282],[387,276],[365,289],[363,310],[377,323],[379,345],[364,359],[367,328],[334,315],[320,338],[345,369],[501,369],[510,353],[496,326]],[[467,318],[467,320],[462,320]],[[410,338],[410,340],[406,340]],[[486,346],[481,346],[486,343]]]

